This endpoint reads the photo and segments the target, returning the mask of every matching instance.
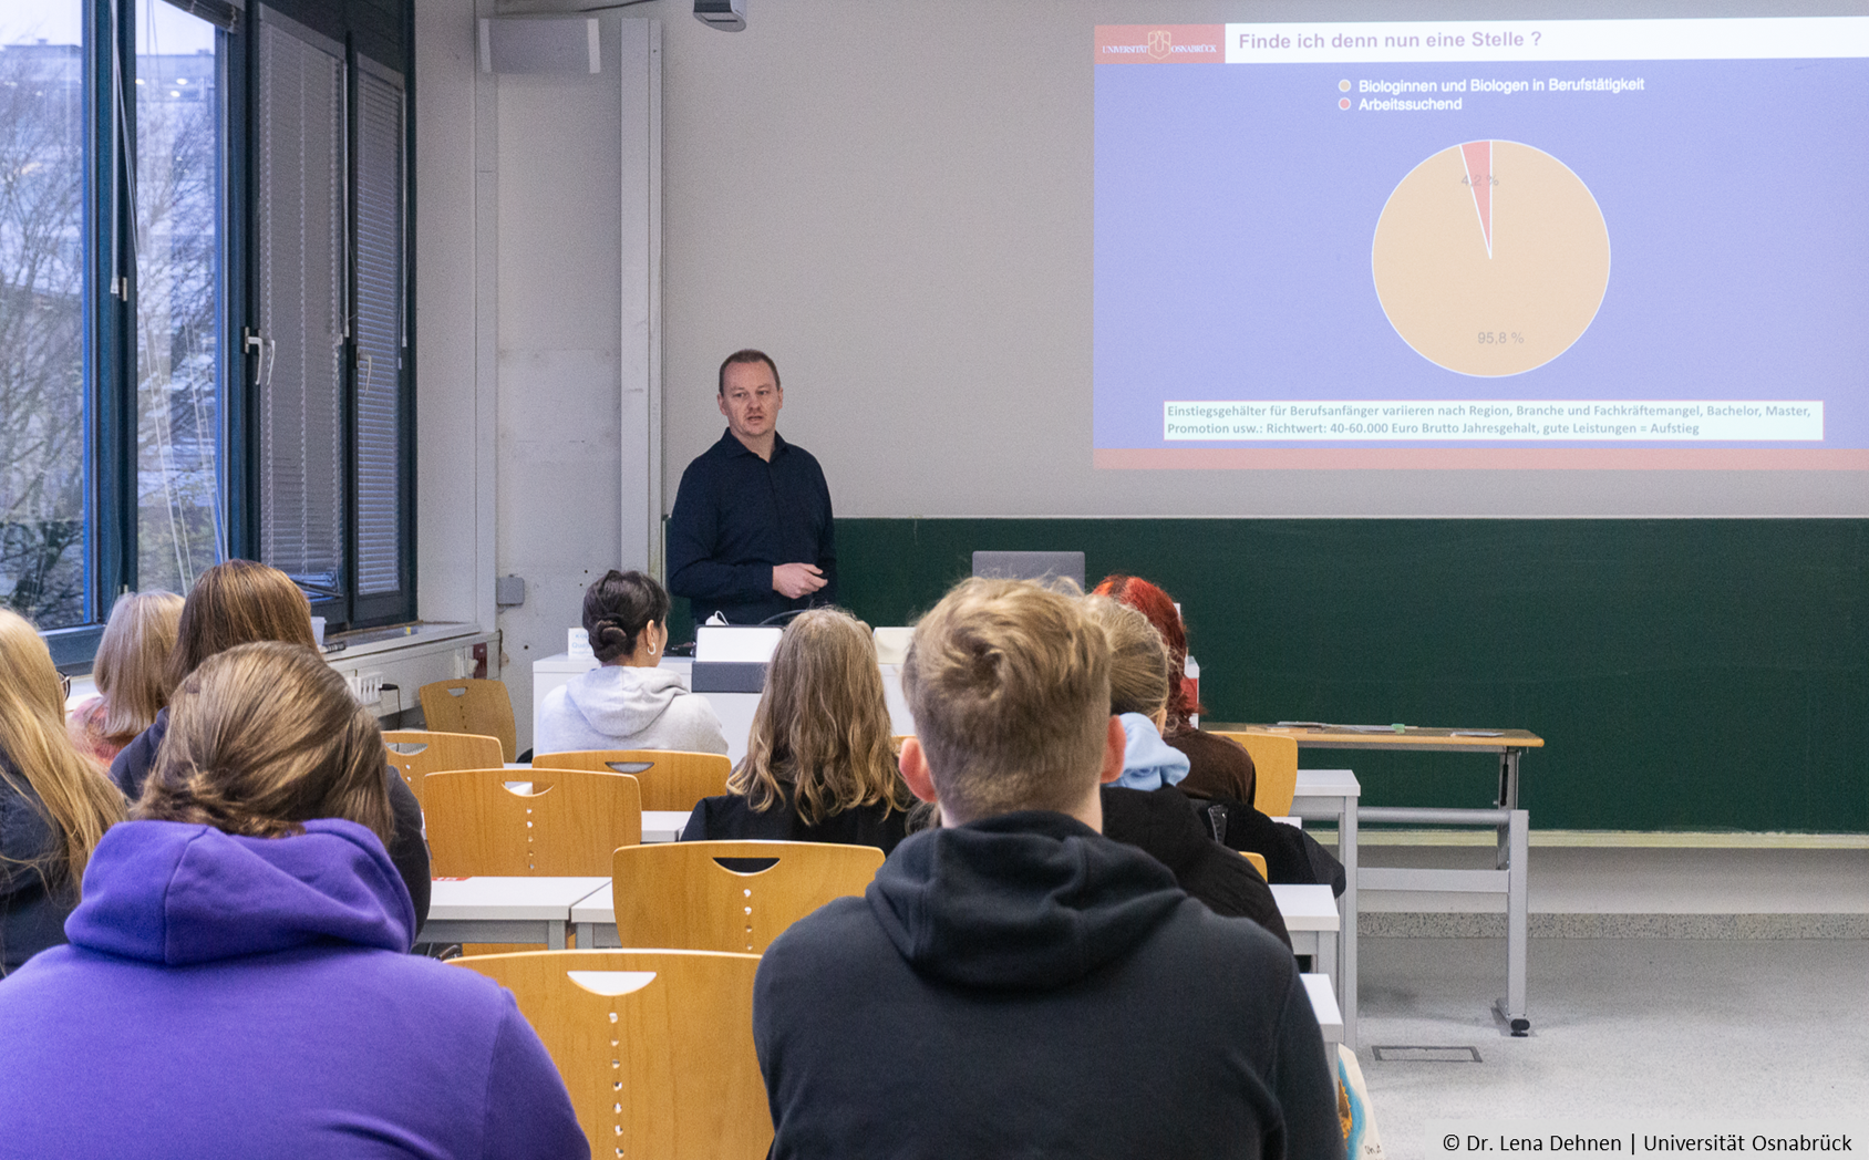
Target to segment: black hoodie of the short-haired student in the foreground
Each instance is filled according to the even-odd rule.
[[[753,1042],[774,1156],[1344,1156],[1291,953],[1063,814],[910,835],[772,943]]]

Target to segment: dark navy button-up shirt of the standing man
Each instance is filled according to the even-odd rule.
[[[817,564],[826,583],[785,600],[772,588],[779,564]],[[729,624],[759,624],[837,603],[830,488],[811,452],[774,431],[768,463],[729,430],[697,456],[669,516],[669,590],[693,603],[695,624],[716,611]]]

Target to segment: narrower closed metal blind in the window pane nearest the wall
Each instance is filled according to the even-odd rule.
[[[366,62],[368,65],[368,62]],[[402,82],[357,73],[357,594],[402,583]]]

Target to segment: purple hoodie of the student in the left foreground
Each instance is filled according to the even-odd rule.
[[[0,1158],[589,1156],[512,996],[407,955],[363,826],[125,822],[0,983]]]

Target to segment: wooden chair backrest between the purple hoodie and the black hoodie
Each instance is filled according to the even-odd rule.
[[[512,992],[592,1156],[759,1160],[772,1145],[753,1055],[757,955],[542,951],[454,966]]]

